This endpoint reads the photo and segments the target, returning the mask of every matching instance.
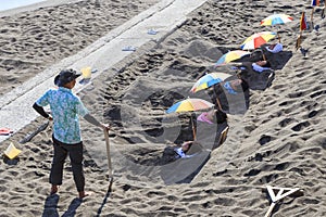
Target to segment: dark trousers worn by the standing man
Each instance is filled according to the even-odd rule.
[[[70,154],[74,181],[77,191],[84,191],[85,177],[83,171],[83,142],[76,144],[66,144],[57,140],[53,136],[52,140],[54,148],[54,156],[50,173],[50,183],[57,186],[62,184],[63,165],[67,154]]]

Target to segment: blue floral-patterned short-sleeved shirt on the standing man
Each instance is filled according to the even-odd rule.
[[[36,103],[39,106],[50,104],[53,117],[54,138],[67,144],[82,141],[78,115],[85,116],[89,112],[80,99],[71,89],[60,87],[48,90]]]

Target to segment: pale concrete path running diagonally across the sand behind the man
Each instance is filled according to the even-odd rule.
[[[151,40],[160,40],[172,34],[174,29],[187,20],[187,14],[201,7],[206,0],[162,0],[149,10],[133,17],[120,27],[111,30],[76,55],[62,60],[58,64],[45,69],[34,78],[24,82],[11,92],[0,98],[0,127],[17,131],[38,117],[32,108],[33,103],[50,87],[53,87],[55,73],[61,68],[72,67],[80,69],[85,66],[97,68],[98,73],[112,73],[109,69],[120,61],[128,58],[134,51],[123,51],[127,46],[140,48]],[[149,29],[158,31],[148,34]],[[75,92],[86,86],[77,85]],[[8,137],[0,136],[0,142]]]

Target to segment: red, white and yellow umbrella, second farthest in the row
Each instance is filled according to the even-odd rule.
[[[261,31],[248,37],[240,46],[242,50],[254,50],[262,44],[275,38],[276,34],[273,31]]]

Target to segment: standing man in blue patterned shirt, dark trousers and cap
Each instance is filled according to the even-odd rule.
[[[109,130],[109,125],[98,122],[84,106],[80,99],[72,92],[76,85],[76,78],[80,76],[76,71],[64,69],[54,78],[58,89],[45,92],[33,107],[45,118],[53,120],[53,149],[54,155],[50,171],[51,194],[58,192],[62,184],[64,161],[70,154],[74,181],[79,199],[89,195],[85,192],[85,177],[83,171],[83,141],[78,115],[90,124]],[[42,106],[50,105],[51,115],[45,112]]]

